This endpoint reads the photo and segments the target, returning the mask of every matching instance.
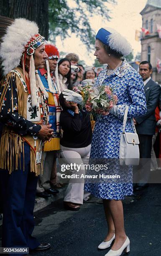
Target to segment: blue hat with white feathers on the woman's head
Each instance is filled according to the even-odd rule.
[[[96,39],[100,40],[103,44],[110,46],[110,49],[117,51],[122,55],[128,55],[132,48],[126,38],[120,35],[113,28],[100,28],[97,32]]]

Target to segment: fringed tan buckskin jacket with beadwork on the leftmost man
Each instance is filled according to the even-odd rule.
[[[9,72],[0,82],[0,122],[3,131],[0,141],[0,168],[24,170],[20,163],[20,154],[24,152],[24,142],[30,146],[31,172],[36,176],[42,173],[43,142],[37,137],[41,126],[48,123],[48,106],[46,97],[38,82],[37,99],[39,107],[32,108],[31,95],[23,77],[23,70],[18,67]],[[23,161],[24,162],[24,161]]]

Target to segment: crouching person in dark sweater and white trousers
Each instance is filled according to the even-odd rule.
[[[61,158],[68,163],[74,160],[77,164],[88,164],[92,129],[89,115],[79,110],[77,103],[66,101],[61,93],[59,102],[62,107],[60,125],[63,130],[63,137],[60,140]],[[74,173],[74,171],[73,171]],[[85,174],[84,168],[76,174]],[[79,183],[78,183],[79,182]],[[83,200],[87,200],[90,193],[84,193],[84,179],[71,179],[65,192],[64,207],[67,210],[79,210]]]

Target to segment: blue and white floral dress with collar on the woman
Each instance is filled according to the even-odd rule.
[[[126,106],[129,106],[126,132],[133,133],[130,118],[146,113],[143,80],[138,72],[124,60],[121,67],[118,67],[110,76],[107,76],[106,68],[100,72],[95,87],[99,87],[102,84],[112,87],[113,93],[118,96],[118,116],[110,113],[109,115],[99,115],[97,117],[92,137],[90,159],[119,159],[120,135]],[[86,181],[84,190],[91,192],[95,197],[109,200],[122,200],[124,196],[132,195],[132,166],[119,166],[119,164],[116,164],[115,171],[117,173],[127,171],[131,177],[130,182],[88,183]]]

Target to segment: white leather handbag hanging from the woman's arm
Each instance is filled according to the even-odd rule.
[[[136,133],[133,118],[131,118],[131,123],[133,125],[134,133],[125,133],[125,125],[128,115],[128,106],[125,109],[124,119],[123,119],[123,132],[120,137],[120,165],[138,165],[139,164],[139,138]]]

